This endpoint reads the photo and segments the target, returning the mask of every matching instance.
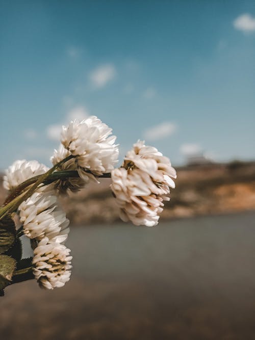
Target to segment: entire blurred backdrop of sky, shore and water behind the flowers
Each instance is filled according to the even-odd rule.
[[[89,115],[120,164],[142,139],[177,170],[154,228],[119,220],[107,179],[62,199],[71,280],[8,287],[1,336],[254,339],[254,1],[1,0],[0,19],[2,177],[50,166]]]

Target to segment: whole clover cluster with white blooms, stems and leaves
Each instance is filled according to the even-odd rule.
[[[95,116],[73,120],[62,128],[62,144],[51,158],[52,168],[21,160],[6,170],[4,187],[10,193],[0,207],[0,243],[4,251],[2,267],[8,272],[0,277],[0,296],[12,283],[12,276],[13,282],[27,280],[33,276],[32,270],[44,289],[69,281],[72,256],[64,245],[69,220],[59,206],[58,194],[78,192],[90,179],[97,181],[96,177],[109,177],[111,172],[120,218],[135,225],[158,224],[163,201],[170,199],[167,195],[175,187],[176,172],[170,160],[155,147],[138,141],[127,152],[122,166],[114,169],[118,158],[115,140],[112,129]],[[16,231],[15,213],[21,223]],[[34,257],[25,261],[15,256],[20,253],[17,239],[23,234],[32,240],[34,250]]]

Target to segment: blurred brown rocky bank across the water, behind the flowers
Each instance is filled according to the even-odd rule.
[[[176,188],[165,203],[162,219],[255,210],[255,162],[212,164],[177,168]],[[110,179],[89,185],[78,194],[62,198],[72,224],[119,221]],[[2,187],[1,187],[2,188]],[[0,198],[6,193],[3,188]]]

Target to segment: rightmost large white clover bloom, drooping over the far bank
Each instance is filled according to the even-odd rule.
[[[163,200],[169,201],[176,172],[170,160],[156,148],[138,141],[127,152],[121,168],[111,173],[112,191],[120,208],[120,218],[136,225],[158,224]]]

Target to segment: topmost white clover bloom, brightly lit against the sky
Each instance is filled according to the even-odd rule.
[[[113,170],[118,162],[118,148],[114,144],[116,137],[109,137],[111,134],[112,129],[95,116],[63,126],[61,143],[77,156],[78,172],[84,180],[89,179],[85,170],[90,170],[93,175],[102,175]]]

